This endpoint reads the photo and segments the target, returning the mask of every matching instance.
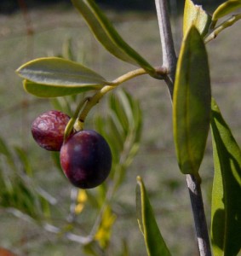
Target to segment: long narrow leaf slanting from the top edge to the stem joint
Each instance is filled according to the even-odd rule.
[[[106,15],[93,0],[72,0],[73,5],[83,15],[95,38],[100,41],[112,55],[122,61],[140,66],[148,73],[155,73],[154,68],[135,49],[131,48],[118,34]]]

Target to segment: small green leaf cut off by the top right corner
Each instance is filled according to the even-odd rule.
[[[223,16],[229,15],[238,8],[241,8],[241,0],[229,0],[222,3],[217,9],[215,9],[212,20],[221,19]]]

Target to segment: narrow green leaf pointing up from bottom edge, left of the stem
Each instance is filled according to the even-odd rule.
[[[148,255],[170,256],[169,249],[158,229],[158,224],[141,177],[137,177],[136,210],[138,224],[146,242]]]

